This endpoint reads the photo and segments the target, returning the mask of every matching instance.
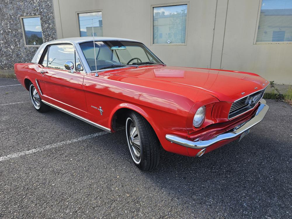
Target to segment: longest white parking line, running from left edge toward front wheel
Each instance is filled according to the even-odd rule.
[[[20,156],[27,155],[27,154],[33,154],[33,153],[36,153],[36,152],[41,152],[41,151],[48,150],[48,149],[51,149],[51,148],[54,148],[54,147],[61,147],[63,145],[72,144],[74,142],[83,141],[83,140],[86,140],[86,139],[89,139],[89,138],[94,138],[96,136],[105,135],[105,134],[109,134],[109,133],[106,132],[106,131],[102,131],[102,132],[94,133],[94,134],[91,134],[91,135],[86,135],[86,136],[83,136],[83,137],[80,137],[80,138],[75,138],[75,139],[72,139],[72,140],[61,141],[61,142],[54,143],[54,144],[51,144],[51,145],[46,145],[44,147],[37,147],[37,148],[31,149],[31,150],[28,150],[28,151],[22,151],[22,152],[18,152],[18,153],[15,153],[15,154],[9,154],[9,155],[0,157],[0,161],[13,159],[15,157],[20,157]]]

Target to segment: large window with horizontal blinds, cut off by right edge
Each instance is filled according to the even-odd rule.
[[[292,1],[262,0],[256,43],[292,42]]]

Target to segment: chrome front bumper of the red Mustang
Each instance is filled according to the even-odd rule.
[[[170,142],[176,143],[178,145],[182,145],[182,146],[190,147],[190,148],[194,148],[194,149],[203,149],[203,148],[209,147],[217,142],[240,136],[246,130],[250,129],[251,127],[258,124],[260,121],[262,121],[263,118],[265,117],[268,109],[269,109],[269,106],[266,105],[266,101],[264,99],[261,99],[260,106],[258,107],[258,110],[256,111],[255,116],[252,119],[247,121],[240,128],[233,130],[233,131],[230,131],[230,132],[227,132],[227,133],[224,133],[224,134],[221,134],[221,135],[218,135],[215,138],[210,139],[210,140],[191,141],[191,140],[188,140],[186,138],[182,138],[180,136],[170,135],[170,134],[165,135],[165,138],[167,140],[169,140]]]

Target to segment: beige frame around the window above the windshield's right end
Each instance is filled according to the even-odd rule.
[[[150,34],[150,46],[186,46],[187,45],[187,29],[189,23],[189,1],[181,1],[181,2],[174,2],[174,3],[165,3],[165,4],[154,4],[150,6],[151,11],[151,34]],[[156,7],[167,7],[167,6],[177,6],[177,5],[187,5],[187,20],[185,26],[185,43],[169,43],[169,44],[153,44],[153,10]]]

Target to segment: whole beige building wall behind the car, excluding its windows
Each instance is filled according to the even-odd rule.
[[[260,0],[190,0],[186,45],[151,45],[151,6],[167,0],[53,0],[58,38],[79,36],[78,12],[102,11],[103,36],[143,42],[173,66],[222,68],[292,84],[292,44],[255,44]]]

